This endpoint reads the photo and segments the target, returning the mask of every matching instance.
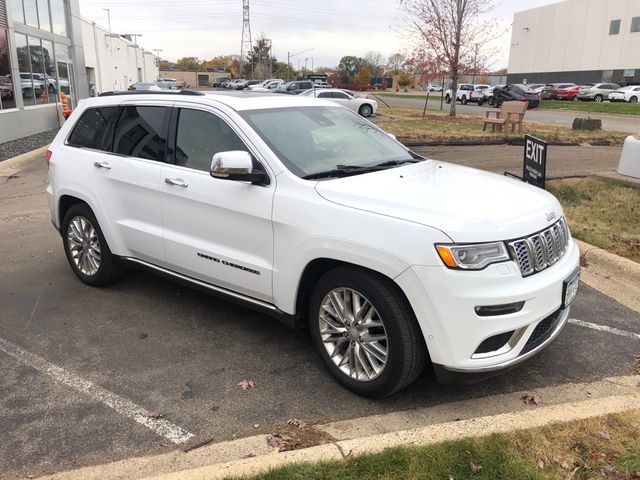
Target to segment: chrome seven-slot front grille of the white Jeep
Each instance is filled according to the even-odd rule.
[[[567,251],[569,229],[561,218],[546,230],[509,242],[511,256],[518,263],[523,277],[533,275],[553,265]]]

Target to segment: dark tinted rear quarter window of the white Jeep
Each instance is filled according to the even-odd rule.
[[[69,135],[69,145],[110,152],[118,111],[118,107],[88,109],[73,127]]]

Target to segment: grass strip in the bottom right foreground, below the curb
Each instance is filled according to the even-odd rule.
[[[259,480],[640,479],[640,411],[278,468]]]

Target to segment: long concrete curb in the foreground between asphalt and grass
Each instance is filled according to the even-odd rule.
[[[291,452],[272,453],[267,436],[255,435],[188,452],[133,457],[41,478],[208,480],[254,475],[292,463],[340,461],[394,446],[426,445],[640,408],[639,386],[638,375],[553,385],[318,425],[316,428],[332,435],[335,442]],[[539,398],[542,406],[525,405],[525,393]]]

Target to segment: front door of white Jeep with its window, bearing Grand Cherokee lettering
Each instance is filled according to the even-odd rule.
[[[212,178],[214,154],[251,150],[218,114],[175,108],[174,115],[174,161],[161,175],[169,268],[271,302],[274,177],[267,187]]]

